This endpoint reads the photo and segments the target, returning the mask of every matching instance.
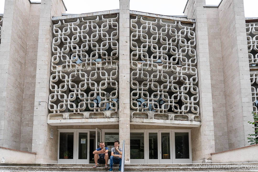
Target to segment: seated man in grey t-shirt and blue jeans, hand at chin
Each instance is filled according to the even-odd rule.
[[[118,171],[121,171],[121,163],[122,163],[122,149],[119,148],[120,142],[116,140],[114,142],[115,147],[111,149],[111,156],[110,156],[110,169],[108,171],[113,171],[113,163],[119,164]]]

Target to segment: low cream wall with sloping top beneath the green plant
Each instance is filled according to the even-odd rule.
[[[211,153],[212,163],[258,162],[258,144]]]

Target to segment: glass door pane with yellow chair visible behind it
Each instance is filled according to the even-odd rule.
[[[170,159],[170,133],[161,133],[162,159]]]

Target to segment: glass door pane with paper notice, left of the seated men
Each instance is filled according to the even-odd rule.
[[[88,133],[79,133],[78,159],[87,159]]]

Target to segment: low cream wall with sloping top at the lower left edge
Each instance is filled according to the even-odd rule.
[[[35,163],[36,153],[0,147],[0,162]]]

